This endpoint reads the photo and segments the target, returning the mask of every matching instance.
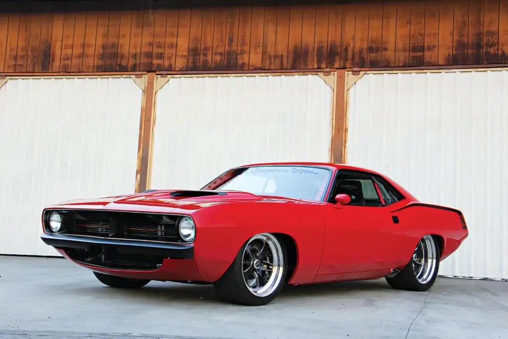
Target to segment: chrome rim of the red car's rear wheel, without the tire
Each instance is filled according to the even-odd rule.
[[[434,239],[430,235],[426,235],[418,243],[411,259],[416,279],[421,284],[427,284],[434,276],[436,260]]]

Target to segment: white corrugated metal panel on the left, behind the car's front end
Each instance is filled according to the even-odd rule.
[[[130,78],[0,88],[0,253],[57,255],[39,239],[44,206],[134,192],[141,97]]]

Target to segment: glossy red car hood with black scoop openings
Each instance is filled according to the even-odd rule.
[[[278,202],[298,201],[278,197],[263,198],[255,194],[236,191],[160,190],[99,199],[71,200],[47,208],[112,209],[165,213],[169,213],[175,209],[181,209],[188,213],[204,207],[227,202],[267,200]]]

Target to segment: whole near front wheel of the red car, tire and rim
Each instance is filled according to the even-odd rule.
[[[229,302],[261,306],[271,302],[282,289],[287,274],[287,251],[270,233],[250,238],[233,264],[213,285]]]

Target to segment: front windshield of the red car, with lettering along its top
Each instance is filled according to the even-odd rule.
[[[241,169],[240,174],[215,190],[243,191],[257,195],[321,201],[330,175],[329,169],[319,167],[250,167]]]

